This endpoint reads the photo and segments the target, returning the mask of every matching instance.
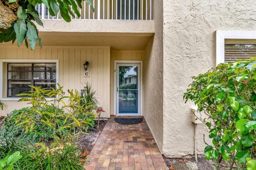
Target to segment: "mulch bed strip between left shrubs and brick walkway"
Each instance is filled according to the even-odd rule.
[[[98,123],[98,121],[96,121]],[[97,125],[93,130],[88,131],[87,134],[81,134],[78,139],[78,146],[85,149],[85,152],[89,155],[94,144],[97,142],[101,131],[104,129],[107,121],[100,121],[99,129],[97,129]]]

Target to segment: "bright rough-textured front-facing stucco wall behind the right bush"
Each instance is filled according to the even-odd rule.
[[[194,126],[183,92],[190,77],[215,66],[215,30],[255,30],[253,0],[164,0],[163,3],[163,154],[194,153]],[[205,147],[204,126],[198,126],[198,152]]]

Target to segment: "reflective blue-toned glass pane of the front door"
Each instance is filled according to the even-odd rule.
[[[138,66],[119,66],[119,113],[138,113]]]

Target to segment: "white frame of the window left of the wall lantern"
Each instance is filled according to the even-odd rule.
[[[59,83],[59,60],[0,60],[0,100],[18,101],[21,97],[3,97],[3,63],[56,63],[56,87]]]

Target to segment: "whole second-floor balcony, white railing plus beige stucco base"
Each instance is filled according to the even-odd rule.
[[[38,25],[41,32],[95,32],[95,33],[154,33],[153,0],[92,0],[94,12],[87,3],[67,23],[57,16],[51,16],[44,4],[37,5],[37,11],[44,23]],[[74,12],[73,12],[74,13]]]

